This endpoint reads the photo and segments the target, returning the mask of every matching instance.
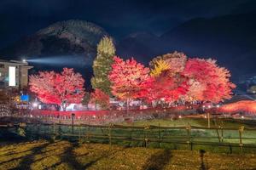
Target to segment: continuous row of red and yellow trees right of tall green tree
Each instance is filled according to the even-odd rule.
[[[109,79],[112,93],[119,99],[145,101],[201,101],[218,103],[231,98],[235,84],[230,72],[213,59],[189,59],[183,53],[154,58],[147,67],[135,59],[114,58]]]

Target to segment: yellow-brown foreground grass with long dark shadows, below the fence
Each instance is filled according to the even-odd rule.
[[[0,169],[255,169],[256,156],[204,151],[127,148],[67,141],[5,144]]]

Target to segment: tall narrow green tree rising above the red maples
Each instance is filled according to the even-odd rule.
[[[93,62],[93,74],[91,78],[92,88],[101,89],[105,94],[111,95],[111,82],[108,73],[112,70],[115,47],[111,37],[103,37],[97,46],[97,56]]]

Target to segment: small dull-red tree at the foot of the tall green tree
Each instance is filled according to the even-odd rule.
[[[109,96],[104,94],[102,90],[96,88],[95,92],[90,94],[90,103],[95,105],[101,105],[102,109],[109,108]]]

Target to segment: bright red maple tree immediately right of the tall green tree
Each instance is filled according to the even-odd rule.
[[[149,77],[149,69],[137,63],[135,59],[123,60],[113,58],[112,71],[108,75],[112,82],[112,94],[119,99],[126,100],[127,105],[131,99],[137,99],[143,88],[143,82]]]

